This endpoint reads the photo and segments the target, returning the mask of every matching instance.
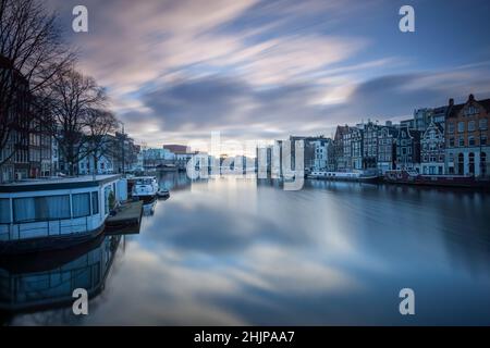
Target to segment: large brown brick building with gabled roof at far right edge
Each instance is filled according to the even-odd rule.
[[[490,99],[474,95],[463,104],[451,104],[445,120],[449,174],[488,176],[490,147],[488,119]]]

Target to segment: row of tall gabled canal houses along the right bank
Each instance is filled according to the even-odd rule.
[[[464,103],[453,99],[438,108],[418,109],[414,117],[384,125],[368,121],[339,125],[333,139],[290,137],[305,140],[305,171],[414,170],[427,175],[490,173],[488,119],[490,99]]]

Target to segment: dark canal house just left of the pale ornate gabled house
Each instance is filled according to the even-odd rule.
[[[415,170],[420,172],[420,132],[401,126],[396,137],[397,170]]]

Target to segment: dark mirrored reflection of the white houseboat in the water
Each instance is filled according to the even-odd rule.
[[[121,236],[96,240],[49,254],[0,260],[0,310],[8,313],[65,308],[76,288],[94,298],[103,290]]]

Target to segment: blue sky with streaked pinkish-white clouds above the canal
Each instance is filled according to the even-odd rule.
[[[72,9],[88,9],[74,33]],[[415,10],[402,33],[399,10]],[[139,144],[333,136],[490,97],[488,0],[49,0]],[[197,146],[198,147],[198,146]]]

